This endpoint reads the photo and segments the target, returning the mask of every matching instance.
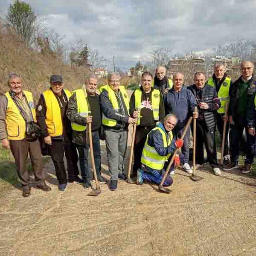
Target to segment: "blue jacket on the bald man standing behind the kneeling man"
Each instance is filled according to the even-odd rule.
[[[164,98],[164,105],[166,115],[175,113],[177,116],[178,121],[175,130],[179,131],[185,127],[189,116],[192,116],[197,102],[193,93],[183,85],[180,92],[176,92],[174,88],[169,90]]]

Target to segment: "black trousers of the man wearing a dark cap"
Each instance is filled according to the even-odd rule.
[[[67,137],[62,140],[52,139],[50,147],[51,157],[59,184],[67,184],[67,175],[64,167],[64,152],[67,159],[67,173],[69,181],[79,175],[77,167],[78,156],[76,146]]]

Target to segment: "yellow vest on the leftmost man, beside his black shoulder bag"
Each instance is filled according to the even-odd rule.
[[[31,92],[22,91],[26,96],[27,102],[29,104],[34,121],[35,119],[35,104],[33,100],[33,95]],[[10,93],[5,93],[8,100],[6,109],[6,127],[8,140],[23,140],[26,137],[26,122],[23,116],[20,114],[15,102],[13,101]]]

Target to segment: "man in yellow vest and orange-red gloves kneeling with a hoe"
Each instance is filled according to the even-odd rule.
[[[177,124],[177,117],[174,113],[168,114],[163,122],[157,124],[147,136],[141,157],[142,168],[137,171],[137,184],[143,185],[143,181],[160,184],[168,165],[168,160],[176,148],[183,145],[183,140],[172,135],[172,129]],[[183,155],[177,154],[169,172],[180,166]],[[172,185],[172,177],[167,175],[163,186]]]

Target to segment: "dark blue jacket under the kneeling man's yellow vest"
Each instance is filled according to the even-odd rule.
[[[160,122],[156,127],[160,127],[167,134],[167,136],[169,136],[162,122]],[[148,145],[154,147],[157,151],[157,154],[160,156],[167,156],[168,154],[172,154],[172,152],[176,149],[175,138],[173,138],[171,144],[165,148],[163,146],[163,136],[160,131],[157,130],[151,131],[148,134]]]

